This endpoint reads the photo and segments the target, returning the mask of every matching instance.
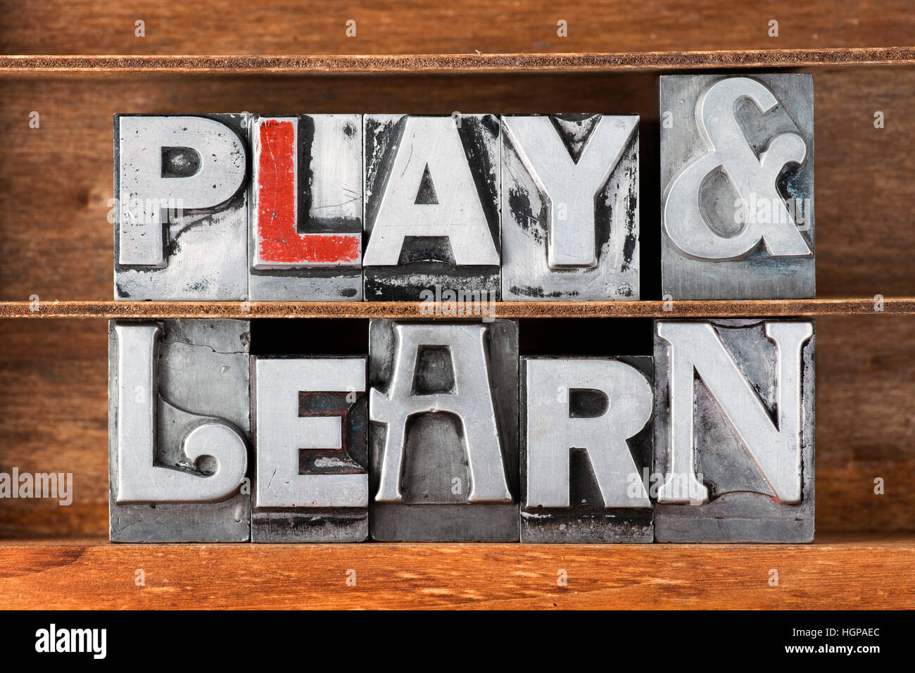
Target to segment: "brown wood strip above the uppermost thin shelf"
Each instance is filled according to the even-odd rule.
[[[135,22],[145,21],[145,37]],[[770,38],[770,21],[779,37]],[[347,37],[347,21],[356,36]],[[567,37],[557,35],[565,20]],[[909,0],[20,0],[0,4],[5,54],[428,54],[897,47]]]

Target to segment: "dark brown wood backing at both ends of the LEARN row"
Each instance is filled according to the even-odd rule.
[[[915,530],[913,330],[912,316],[816,320],[820,532]],[[69,506],[0,500],[0,538],[107,537],[107,323],[0,320],[0,344],[0,472],[74,483]]]

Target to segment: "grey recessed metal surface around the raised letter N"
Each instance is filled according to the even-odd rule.
[[[716,332],[764,406],[776,407],[777,353],[759,320],[715,320]],[[733,329],[743,327],[744,329]],[[730,329],[729,329],[730,328]],[[655,322],[657,330],[657,321]],[[657,332],[656,332],[657,333]],[[655,505],[659,542],[811,542],[814,511],[814,353],[815,335],[802,347],[802,502],[781,505],[762,478],[718,403],[697,379],[694,385],[695,471],[704,476],[704,505]],[[668,472],[670,442],[669,346],[658,336],[655,363],[654,472]]]

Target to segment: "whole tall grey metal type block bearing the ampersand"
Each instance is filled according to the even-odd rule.
[[[813,76],[661,78],[662,292],[815,295]]]

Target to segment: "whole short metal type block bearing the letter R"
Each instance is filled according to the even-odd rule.
[[[523,357],[521,541],[652,542],[649,356]]]

